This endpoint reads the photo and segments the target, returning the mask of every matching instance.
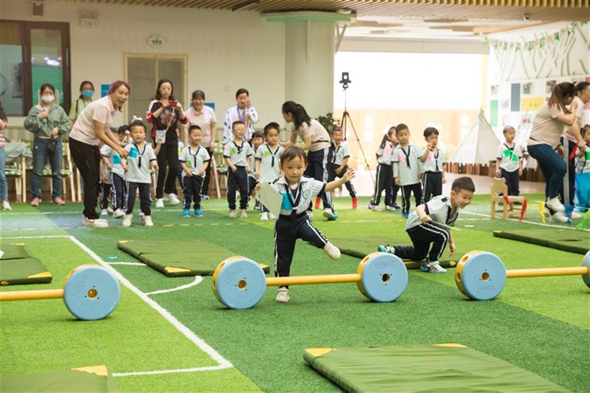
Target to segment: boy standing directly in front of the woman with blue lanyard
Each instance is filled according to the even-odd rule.
[[[237,120],[231,125],[233,140],[225,145],[223,156],[227,163],[227,202],[230,207],[230,218],[235,219],[235,191],[240,190],[240,217],[248,217],[248,172],[250,171],[250,157],[253,154],[250,143],[244,141],[246,126]]]

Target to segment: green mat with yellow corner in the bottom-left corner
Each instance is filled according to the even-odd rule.
[[[73,368],[39,374],[2,375],[0,391],[8,392],[119,392],[106,366]]]

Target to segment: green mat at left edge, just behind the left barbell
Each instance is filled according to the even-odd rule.
[[[46,284],[53,277],[47,267],[27,252],[24,243],[2,244],[0,285]]]

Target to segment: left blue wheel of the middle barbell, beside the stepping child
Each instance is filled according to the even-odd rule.
[[[228,308],[252,308],[260,302],[265,290],[263,269],[242,256],[224,260],[213,274],[213,292]]]

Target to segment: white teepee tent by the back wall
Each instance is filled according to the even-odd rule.
[[[487,122],[483,111],[477,115],[471,130],[449,160],[460,164],[489,164],[496,160],[500,141]]]

